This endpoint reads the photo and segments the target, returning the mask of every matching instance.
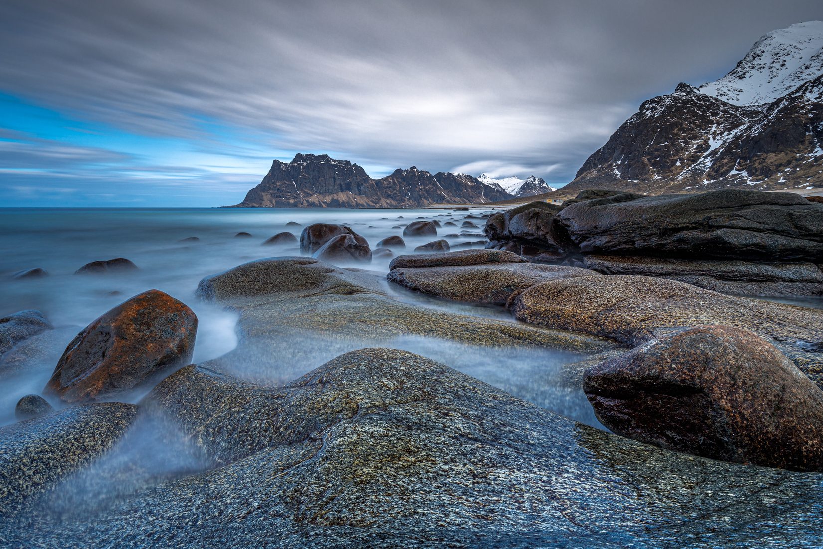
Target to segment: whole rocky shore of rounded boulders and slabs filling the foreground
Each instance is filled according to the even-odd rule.
[[[486,249],[432,251],[460,223]],[[0,545],[823,547],[823,309],[753,299],[823,295],[823,204],[588,190],[397,231],[202,279],[238,315],[211,361],[170,295],[101,311],[0,427]],[[53,332],[0,319],[0,379]],[[409,342],[565,360],[506,385]]]

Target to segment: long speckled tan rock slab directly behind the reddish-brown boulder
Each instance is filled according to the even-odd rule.
[[[823,310],[723,295],[663,278],[614,275],[547,281],[523,291],[514,317],[636,347],[699,324],[751,330],[823,387]]]

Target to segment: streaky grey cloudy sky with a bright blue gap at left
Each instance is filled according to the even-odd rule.
[[[568,183],[820,0],[2,0],[0,206],[212,207],[327,153]]]

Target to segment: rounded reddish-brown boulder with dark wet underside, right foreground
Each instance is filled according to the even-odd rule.
[[[684,328],[594,366],[584,391],[612,431],[709,458],[823,470],[823,391],[773,345]]]

